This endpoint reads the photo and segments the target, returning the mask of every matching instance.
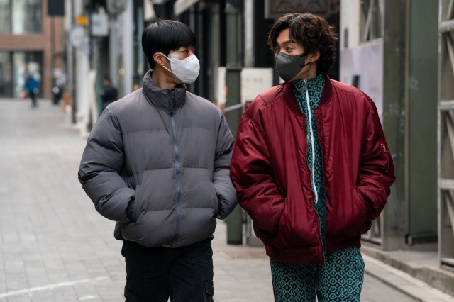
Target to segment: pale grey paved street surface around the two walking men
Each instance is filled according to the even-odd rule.
[[[0,302],[124,301],[125,264],[114,222],[77,180],[86,138],[49,101],[0,100]],[[218,223],[216,302],[274,301],[258,247],[226,245]],[[416,301],[366,274],[362,301]]]

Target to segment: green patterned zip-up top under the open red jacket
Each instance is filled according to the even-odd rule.
[[[323,158],[321,153],[319,135],[317,133],[317,123],[314,116],[314,109],[319,107],[321,94],[325,87],[325,74],[321,73],[317,77],[299,79],[293,82],[295,96],[301,112],[304,114],[307,133],[307,166],[311,172],[311,185],[314,192],[314,208],[319,215],[320,233],[323,242],[323,252],[325,252],[325,184],[323,181]],[[306,91],[307,89],[307,91]],[[309,94],[309,102],[307,95]]]

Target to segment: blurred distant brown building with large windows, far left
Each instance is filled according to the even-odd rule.
[[[39,96],[50,98],[63,32],[62,18],[48,16],[47,8],[47,0],[0,0],[0,97],[17,97],[32,74]]]

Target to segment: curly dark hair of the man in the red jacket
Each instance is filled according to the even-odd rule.
[[[268,35],[268,45],[273,51],[275,51],[279,33],[287,28],[289,28],[290,38],[303,44],[304,52],[320,50],[317,74],[326,73],[333,67],[338,40],[336,28],[330,26],[321,16],[312,13],[287,13],[276,21]]]

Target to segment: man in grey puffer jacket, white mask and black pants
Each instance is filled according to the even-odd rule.
[[[199,74],[196,38],[157,21],[142,46],[143,89],[94,124],[79,181],[123,240],[126,301],[213,301],[216,218],[238,203],[229,176],[233,137],[221,111],[184,85]]]

